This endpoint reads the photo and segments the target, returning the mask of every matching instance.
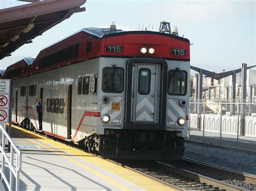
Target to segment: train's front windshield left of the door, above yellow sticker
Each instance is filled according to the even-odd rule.
[[[102,91],[122,93],[124,89],[124,69],[118,67],[103,68]]]

